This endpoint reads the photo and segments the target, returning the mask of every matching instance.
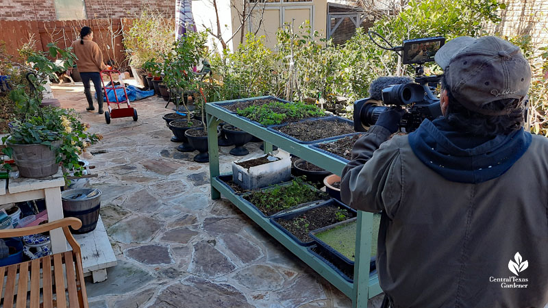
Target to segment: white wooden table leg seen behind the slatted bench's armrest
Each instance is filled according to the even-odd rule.
[[[62,179],[62,177],[61,177]],[[64,183],[64,182],[63,182]],[[63,184],[64,185],[64,184]],[[49,222],[62,219],[63,205],[61,203],[61,189],[59,186],[45,188],[47,218]],[[51,237],[51,251],[53,253],[63,253],[66,250],[66,240],[62,229],[49,231]]]

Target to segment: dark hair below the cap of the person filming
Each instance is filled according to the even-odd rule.
[[[501,99],[484,105],[482,109],[486,110],[505,110],[508,109],[508,106],[514,107],[508,110],[508,114],[486,116],[468,110],[460,104],[451,94],[445,75],[441,80],[441,87],[443,90],[447,90],[447,98],[449,99],[445,118],[453,127],[458,127],[462,131],[479,136],[508,135],[520,129],[525,122],[524,106],[519,99]]]

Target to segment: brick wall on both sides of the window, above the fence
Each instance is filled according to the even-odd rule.
[[[84,0],[89,19],[134,18],[143,8],[175,17],[175,0]],[[0,20],[55,21],[54,0],[0,0]]]

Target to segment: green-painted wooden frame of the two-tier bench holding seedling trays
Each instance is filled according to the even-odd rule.
[[[292,253],[297,255],[303,262],[312,269],[321,274],[329,283],[332,283],[341,292],[346,294],[352,300],[353,307],[366,308],[367,300],[382,292],[379,287],[377,274],[369,273],[369,264],[371,261],[371,238],[373,226],[373,214],[364,211],[358,211],[358,224],[356,234],[356,264],[354,266],[354,283],[349,283],[340,276],[335,270],[325,264],[323,261],[314,257],[308,252],[306,247],[299,246],[286,233],[282,232],[269,221],[268,218],[261,216],[256,209],[253,209],[231,192],[227,186],[223,185],[219,179],[219,146],[217,144],[217,126],[219,123],[229,123],[238,127],[253,136],[264,140],[264,153],[272,151],[273,144],[289,153],[299,157],[306,157],[308,162],[315,164],[325,170],[340,175],[345,167],[345,163],[338,159],[316,151],[307,144],[299,144],[288,138],[273,133],[265,127],[251,123],[249,120],[242,119],[223,107],[206,104],[206,117],[208,122],[208,140],[210,155],[210,179],[211,179],[211,198],[221,198],[221,194],[229,201],[234,203],[242,212],[258,224],[264,231],[268,232],[278,242],[286,246]],[[376,236],[376,235],[375,235]]]

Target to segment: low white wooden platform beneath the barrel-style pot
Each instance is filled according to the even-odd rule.
[[[101,215],[99,215],[95,230],[89,233],[75,234],[74,238],[82,248],[84,274],[91,272],[95,280],[95,271],[116,266],[116,256],[112,250],[110,240],[108,240]]]

